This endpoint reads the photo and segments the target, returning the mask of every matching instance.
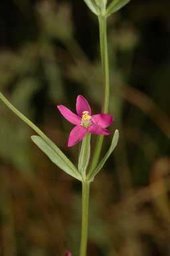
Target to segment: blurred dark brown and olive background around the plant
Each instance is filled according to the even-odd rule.
[[[88,255],[170,255],[169,9],[133,0],[108,19],[110,133],[120,140],[91,186]],[[74,111],[83,94],[100,113],[97,18],[83,0],[1,1],[0,34],[0,90],[77,164],[56,105]],[[0,119],[0,255],[78,255],[80,183],[1,102]]]

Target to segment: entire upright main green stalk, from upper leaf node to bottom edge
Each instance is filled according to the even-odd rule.
[[[98,16],[100,31],[100,52],[102,61],[102,76],[104,82],[104,92],[102,100],[102,113],[108,112],[109,103],[109,68],[108,68],[108,45],[107,45],[107,18],[104,15]],[[101,135],[96,141],[96,150],[92,159],[92,164],[88,176],[93,172],[98,164],[102,143],[104,137]],[[80,245],[80,256],[86,256],[88,240],[88,200],[89,200],[89,182],[82,182],[82,237]]]

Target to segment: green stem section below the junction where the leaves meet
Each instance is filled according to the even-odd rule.
[[[90,182],[82,182],[82,234],[80,244],[80,256],[86,256],[88,241],[88,204],[89,204]]]

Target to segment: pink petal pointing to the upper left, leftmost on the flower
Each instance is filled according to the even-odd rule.
[[[78,117],[78,115],[72,113],[70,109],[67,107],[64,107],[64,105],[59,105],[58,109],[60,113],[70,122],[73,123],[74,125],[80,125],[81,123],[81,118]]]

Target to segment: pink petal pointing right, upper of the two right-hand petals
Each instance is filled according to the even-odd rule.
[[[112,124],[114,117],[108,114],[92,115],[92,121],[102,128],[106,128]]]

